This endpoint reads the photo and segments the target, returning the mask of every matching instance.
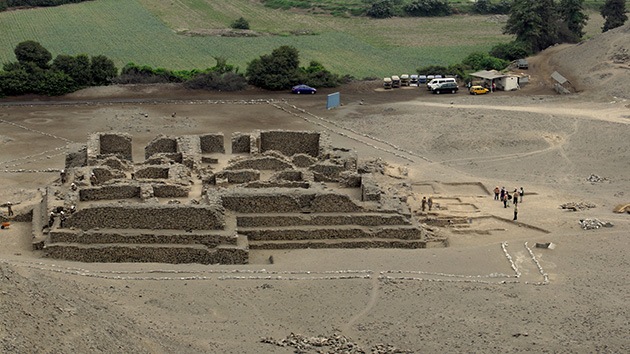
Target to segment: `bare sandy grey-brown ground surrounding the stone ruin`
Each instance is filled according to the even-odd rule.
[[[291,353],[261,338],[295,333],[339,334],[365,352],[630,352],[630,215],[612,212],[630,203],[630,105],[582,83],[554,95],[548,59],[532,58],[532,84],[519,92],[431,95],[363,82],[342,87],[333,110],[326,90],[168,86],[2,105],[0,200],[18,213],[90,132],[130,133],[142,160],[160,133],[292,129],[324,131],[392,174],[407,171],[392,187],[415,208],[432,195],[438,214],[470,224],[440,230],[447,248],[257,251],[249,265],[202,266],[43,259],[30,250],[30,224],[13,223],[0,231],[0,350]],[[517,222],[487,193],[494,186],[524,188]],[[567,202],[596,207],[559,207]],[[586,218],[614,226],[582,230]]]

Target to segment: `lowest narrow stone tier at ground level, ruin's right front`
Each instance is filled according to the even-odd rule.
[[[305,249],[305,248],[426,248],[422,240],[335,239],[335,240],[277,240],[249,241],[251,250]]]

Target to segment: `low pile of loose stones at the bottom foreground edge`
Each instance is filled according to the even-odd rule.
[[[283,339],[273,339],[270,337],[261,338],[262,343],[274,344],[280,347],[293,347],[295,353],[346,353],[346,354],[391,354],[391,353],[411,353],[407,350],[398,349],[389,344],[376,344],[369,350],[361,348],[357,343],[349,338],[335,333],[331,336],[307,337],[301,334],[291,333]]]

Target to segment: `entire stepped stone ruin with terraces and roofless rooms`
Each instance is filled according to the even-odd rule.
[[[136,162],[128,134],[92,134],[33,210],[34,247],[82,262],[202,264],[246,264],[261,249],[426,247],[406,199],[328,139],[160,135]]]

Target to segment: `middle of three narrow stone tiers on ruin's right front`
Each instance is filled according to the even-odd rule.
[[[415,226],[299,226],[274,228],[238,228],[238,233],[247,236],[250,241],[280,240],[324,240],[380,238],[390,240],[420,240],[422,230]]]

